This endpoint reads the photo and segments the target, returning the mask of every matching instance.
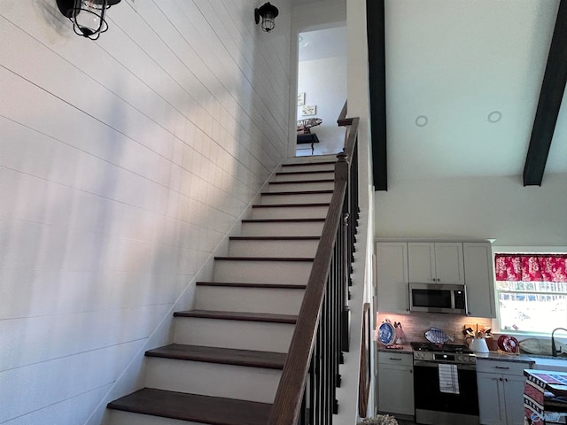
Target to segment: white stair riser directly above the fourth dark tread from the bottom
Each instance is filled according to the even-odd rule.
[[[214,261],[214,282],[290,283],[305,285],[312,261]]]

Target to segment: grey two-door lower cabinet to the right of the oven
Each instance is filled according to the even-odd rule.
[[[524,424],[524,369],[531,363],[478,360],[478,408],[481,425]]]

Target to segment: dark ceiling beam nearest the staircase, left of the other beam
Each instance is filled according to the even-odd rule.
[[[375,190],[388,189],[386,156],[386,55],[384,0],[367,0],[370,146]]]

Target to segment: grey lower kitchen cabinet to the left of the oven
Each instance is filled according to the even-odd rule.
[[[378,352],[378,411],[413,416],[414,357],[405,352]]]

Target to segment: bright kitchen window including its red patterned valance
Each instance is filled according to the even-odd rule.
[[[567,254],[497,253],[494,263],[501,331],[567,328]]]

